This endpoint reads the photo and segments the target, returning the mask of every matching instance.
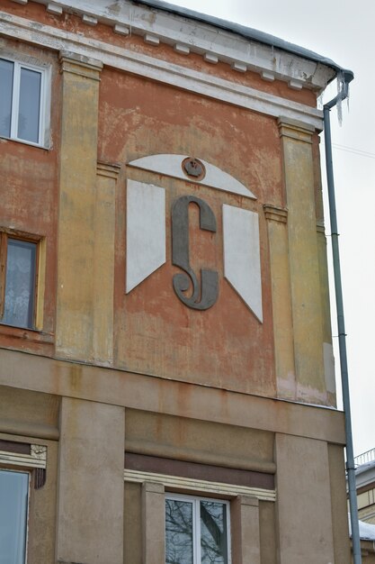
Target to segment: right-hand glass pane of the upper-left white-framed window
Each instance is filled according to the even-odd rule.
[[[40,84],[40,72],[21,68],[17,137],[35,143],[39,141]]]

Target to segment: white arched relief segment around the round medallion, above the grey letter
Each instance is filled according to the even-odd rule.
[[[256,200],[253,192],[251,192],[244,184],[239,182],[235,177],[232,177],[228,172],[225,172],[219,167],[212,165],[206,160],[200,159],[205,168],[205,176],[201,180],[197,177],[187,176],[183,173],[182,163],[183,160],[189,159],[188,155],[174,155],[174,154],[158,154],[141,157],[140,159],[131,160],[128,163],[129,167],[141,168],[142,170],[149,170],[157,174],[165,175],[166,177],[174,177],[182,180],[188,180],[194,184],[201,186],[209,186],[217,190],[223,190],[238,196],[246,196]]]

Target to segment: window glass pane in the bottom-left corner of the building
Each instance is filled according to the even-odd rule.
[[[29,475],[0,470],[0,564],[24,564]]]

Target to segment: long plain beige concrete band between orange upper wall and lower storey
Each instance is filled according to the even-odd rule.
[[[335,409],[0,349],[0,385],[344,445]]]

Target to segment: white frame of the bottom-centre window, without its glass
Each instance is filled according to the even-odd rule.
[[[216,502],[227,506],[227,549],[228,549],[228,564],[231,564],[231,542],[230,542],[230,502],[226,499],[216,499],[213,497],[201,496],[185,496],[183,494],[169,494],[165,492],[165,501],[167,499],[175,501],[185,501],[192,504],[192,553],[193,564],[201,564],[201,501]],[[166,535],[165,535],[165,548],[166,548]]]

